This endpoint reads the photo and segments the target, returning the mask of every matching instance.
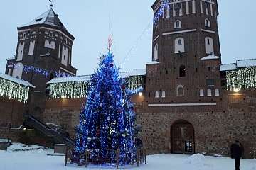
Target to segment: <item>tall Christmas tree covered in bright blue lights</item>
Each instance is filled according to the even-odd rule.
[[[109,51],[100,58],[99,68],[91,77],[87,103],[80,113],[75,152],[90,152],[91,162],[106,164],[118,159],[119,164],[128,164],[136,154],[135,113],[114,64],[111,43],[109,40]]]

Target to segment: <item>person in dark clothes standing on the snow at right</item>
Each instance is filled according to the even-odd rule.
[[[235,140],[231,145],[231,158],[235,159],[235,170],[240,170],[240,160],[242,157],[242,145]]]

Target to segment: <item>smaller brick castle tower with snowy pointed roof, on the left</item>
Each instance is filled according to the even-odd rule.
[[[52,8],[18,29],[16,55],[7,60],[6,74],[29,81],[30,113],[42,112],[46,98],[46,82],[53,77],[75,76],[72,46],[75,38],[63,26]]]

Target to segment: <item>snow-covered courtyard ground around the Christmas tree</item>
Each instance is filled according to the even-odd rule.
[[[16,146],[17,147],[17,146]],[[35,147],[35,146],[33,146]],[[63,156],[47,156],[53,154],[52,149],[36,149],[13,152],[0,151],[1,170],[75,170],[85,169],[85,166],[64,166]],[[90,170],[108,169],[110,167],[89,166]],[[147,157],[147,164],[125,167],[138,170],[228,170],[234,169],[234,160],[230,158],[205,157],[201,154],[192,156],[181,154],[158,154]],[[255,159],[242,159],[242,170],[256,170]]]

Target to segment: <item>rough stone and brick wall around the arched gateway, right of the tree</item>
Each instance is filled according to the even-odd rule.
[[[195,130],[195,152],[229,155],[233,140],[239,140],[245,157],[256,149],[256,91],[228,94],[217,106],[156,107],[137,106],[137,123],[148,154],[170,153],[171,125],[186,120]]]

